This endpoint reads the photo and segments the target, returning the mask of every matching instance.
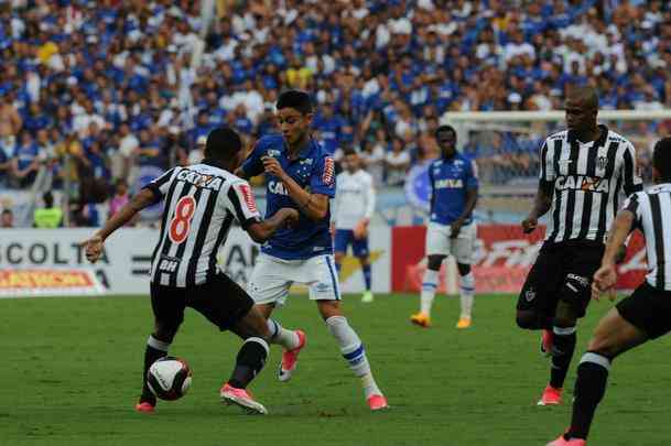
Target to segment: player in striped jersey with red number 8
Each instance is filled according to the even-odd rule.
[[[136,405],[139,412],[154,411],[156,399],[147,385],[147,371],[154,361],[167,356],[188,306],[219,329],[230,329],[245,339],[231,377],[220,390],[221,400],[250,412],[266,413],[245,389],[266,362],[268,325],[251,297],[218,269],[216,255],[234,220],[255,241],[262,242],[277,229],[297,221],[299,214],[283,208],[263,221],[249,184],[230,173],[242,160],[239,135],[230,128],[213,130],[202,163],[175,167],[151,182],[84,242],[87,259],[95,262],[115,230],[147,206],[165,200],[161,235],[152,257],[151,304],[155,324],[144,351],[142,395]]]

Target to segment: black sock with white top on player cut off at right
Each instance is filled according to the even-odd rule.
[[[593,352],[586,352],[577,367],[575,381],[575,400],[571,428],[566,433],[570,438],[587,438],[589,426],[594,418],[596,406],[606,393],[610,360]]]

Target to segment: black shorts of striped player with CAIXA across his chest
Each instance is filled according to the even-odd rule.
[[[545,242],[517,301],[517,309],[553,317],[560,301],[583,317],[589,304],[592,278],[602,263],[604,244],[589,240]]]

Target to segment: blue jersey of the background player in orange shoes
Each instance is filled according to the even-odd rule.
[[[452,159],[439,159],[429,166],[431,184],[431,221],[452,225],[466,207],[466,191],[477,188],[477,168],[461,153]],[[469,224],[473,216],[464,221]]]

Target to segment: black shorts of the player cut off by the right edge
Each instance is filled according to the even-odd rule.
[[[650,339],[671,331],[671,291],[658,290],[643,282],[616,308],[625,320],[646,333]]]

